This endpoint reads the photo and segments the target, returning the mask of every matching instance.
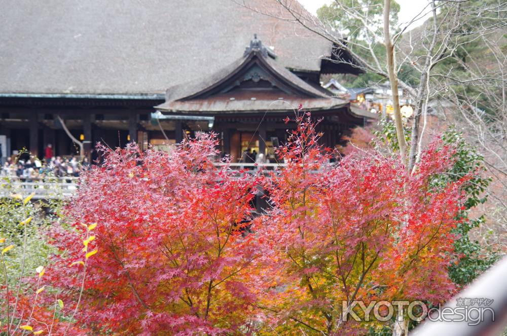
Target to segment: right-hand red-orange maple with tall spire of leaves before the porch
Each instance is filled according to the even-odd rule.
[[[453,164],[453,149],[433,142],[410,176],[399,158],[377,152],[330,165],[309,116],[296,122],[278,150],[287,166],[265,180],[272,209],[254,226],[270,251],[258,293],[266,325],[280,333],[364,332],[371,325],[342,318],[355,300],[449,298],[451,230],[466,178],[442,188],[432,178]]]

